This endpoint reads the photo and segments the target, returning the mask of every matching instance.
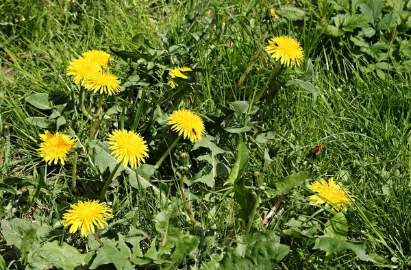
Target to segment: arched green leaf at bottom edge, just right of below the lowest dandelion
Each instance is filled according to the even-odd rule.
[[[117,247],[108,243],[105,243],[103,247],[100,247],[97,251],[97,256],[92,260],[90,269],[97,269],[97,267],[101,265],[108,265],[110,263],[112,263],[116,269],[134,270],[128,253],[123,254]]]

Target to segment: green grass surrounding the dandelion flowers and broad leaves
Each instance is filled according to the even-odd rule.
[[[66,76],[66,66],[83,51],[103,49],[110,52],[138,51],[141,49],[136,34],[142,34],[146,42],[161,51],[170,51],[173,45],[181,49],[173,55],[158,56],[155,68],[148,70],[144,64],[125,62],[113,56],[111,71],[121,82],[128,82],[132,75],[139,75],[140,86],[130,86],[118,97],[110,97],[104,103],[107,111],[118,106],[115,114],[104,119],[97,138],[105,140],[106,134],[115,127],[132,128],[142,133],[150,145],[148,164],[155,164],[175,135],[155,119],[155,108],[171,114],[176,108],[190,108],[199,112],[206,121],[208,134],[215,136],[214,143],[232,154],[218,156],[219,161],[232,167],[237,156],[240,140],[247,142],[249,162],[245,169],[247,185],[252,186],[253,171],[260,171],[264,163],[264,150],[270,150],[273,160],[264,173],[267,183],[282,180],[287,175],[301,171],[310,172],[308,181],[320,177],[336,176],[349,186],[355,197],[355,206],[346,213],[348,240],[364,245],[367,254],[378,254],[387,259],[382,263],[388,269],[407,269],[410,255],[410,73],[401,69],[401,63],[393,63],[394,69],[382,79],[375,73],[360,69],[365,65],[347,53],[335,40],[324,38],[323,29],[310,25],[312,16],[299,23],[269,23],[269,1],[91,1],[77,3],[64,1],[17,1],[17,5],[0,5],[0,14],[10,14],[5,21],[16,18],[25,21],[0,26],[0,116],[2,164],[0,184],[8,177],[22,177],[40,181],[46,173],[46,186],[29,203],[36,192],[32,186],[16,186],[17,193],[3,191],[0,195],[0,217],[3,220],[21,217],[36,223],[45,223],[60,230],[52,239],[83,251],[87,241],[79,236],[62,234],[60,220],[69,204],[77,199],[99,196],[99,188],[109,172],[99,174],[90,164],[87,152],[79,151],[77,182],[81,194],[71,189],[71,161],[66,166],[46,166],[37,154],[42,128],[27,123],[30,116],[49,116],[25,101],[33,93],[63,95],[73,106],[73,83]],[[295,5],[294,1],[290,1]],[[20,10],[20,7],[25,8]],[[312,5],[306,4],[306,7]],[[314,6],[315,8],[315,6]],[[195,12],[199,12],[195,14]],[[194,19],[192,19],[194,16]],[[311,16],[311,18],[310,18]],[[3,23],[3,21],[2,21]],[[280,88],[277,95],[261,102],[253,100],[258,90],[269,79],[275,61],[266,58],[266,38],[289,35],[297,38],[304,48],[306,59],[314,66],[312,84],[319,92],[316,103],[307,91],[291,86]],[[349,45],[347,45],[349,48]],[[254,57],[256,55],[256,57]],[[247,71],[250,61],[252,66]],[[156,62],[157,61],[157,62]],[[287,69],[284,77],[298,77],[305,71]],[[195,69],[195,83],[182,93],[171,95],[166,83],[168,68],[190,66]],[[248,73],[247,73],[248,72]],[[240,78],[245,75],[242,84]],[[147,83],[149,82],[149,83]],[[97,95],[90,97],[86,106],[97,103]],[[165,101],[164,101],[165,100]],[[233,119],[224,119],[230,101],[249,101],[251,109]],[[62,103],[62,102],[60,102]],[[78,108],[77,108],[78,110]],[[225,125],[247,123],[249,117],[255,123],[253,130],[240,134],[224,132]],[[85,143],[91,123],[80,112],[71,114],[70,127]],[[8,127],[5,127],[5,126]],[[66,126],[69,127],[69,126]],[[263,132],[275,134],[268,143],[257,143],[256,137]],[[8,137],[10,132],[10,137]],[[324,143],[325,149],[315,164],[304,162],[310,149]],[[179,167],[177,157],[182,149],[189,151],[192,145],[179,145],[162,167],[151,177],[151,183],[164,195],[179,201],[180,217],[184,232],[194,228],[184,216],[184,206],[179,196]],[[210,172],[210,164],[196,161],[209,154],[206,149],[190,152],[192,169],[189,179],[197,179],[200,171]],[[126,235],[132,225],[147,232],[142,242],[147,251],[151,240],[157,236],[154,217],[167,208],[164,201],[150,188],[133,188],[127,175],[119,177],[110,188],[108,199],[114,212],[109,229]],[[190,181],[186,193],[195,217],[204,230],[214,230],[215,245],[219,248],[232,245],[232,240],[244,234],[242,222],[235,215],[238,206],[232,193],[225,193],[223,186],[227,176],[216,178],[216,188]],[[94,194],[93,194],[94,193]],[[212,195],[216,195],[216,205]],[[278,269],[365,269],[378,265],[356,258],[351,251],[342,251],[327,258],[325,251],[313,249],[315,238],[295,238],[283,234],[290,219],[306,217],[318,221],[315,235],[322,235],[324,224],[332,214],[308,203],[311,195],[304,185],[293,188],[286,195],[280,208],[281,216],[269,224],[268,230],[279,234],[281,243],[290,246],[290,253],[279,262]],[[262,196],[253,232],[262,230],[261,221],[278,197]],[[26,209],[30,206],[29,209]],[[90,241],[90,240],[89,240]],[[92,242],[92,240],[90,241]],[[97,243],[97,242],[96,242]],[[95,243],[94,243],[95,245]],[[16,249],[6,245],[0,236],[0,254],[10,269],[21,269]],[[209,260],[204,256],[203,260]],[[190,269],[192,260],[181,262],[179,269]],[[153,267],[153,266],[151,266]],[[154,266],[155,267],[155,266]],[[197,265],[199,267],[199,265]]]

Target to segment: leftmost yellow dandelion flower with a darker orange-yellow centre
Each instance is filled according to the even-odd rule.
[[[62,165],[64,165],[67,154],[75,146],[76,140],[58,132],[51,134],[47,130],[45,134],[40,134],[39,136],[42,140],[38,149],[40,157],[45,162],[48,162],[48,164],[51,164],[53,160],[54,164],[57,164],[58,160],[60,160]]]

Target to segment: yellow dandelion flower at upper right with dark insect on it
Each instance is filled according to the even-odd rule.
[[[266,47],[268,53],[273,54],[273,58],[279,60],[286,66],[300,66],[304,59],[303,48],[297,40],[288,36],[277,36],[269,40]]]

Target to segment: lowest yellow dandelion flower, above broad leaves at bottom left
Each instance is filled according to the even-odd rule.
[[[111,209],[105,203],[99,204],[99,201],[79,201],[72,204],[71,209],[63,215],[64,228],[71,225],[70,233],[74,234],[82,229],[82,236],[86,237],[88,232],[95,233],[95,225],[100,229],[107,225],[105,219],[114,217]]]

